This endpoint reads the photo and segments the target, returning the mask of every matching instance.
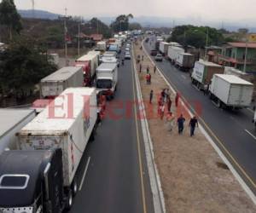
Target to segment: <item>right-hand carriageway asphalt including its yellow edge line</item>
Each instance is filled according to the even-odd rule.
[[[148,52],[154,49],[154,42],[151,45],[144,43]],[[199,116],[202,126],[255,194],[256,135],[252,124],[253,113],[248,109],[236,112],[219,109],[207,95],[191,85],[189,73],[177,70],[168,60],[156,62],[156,65],[192,108],[201,108]]]

